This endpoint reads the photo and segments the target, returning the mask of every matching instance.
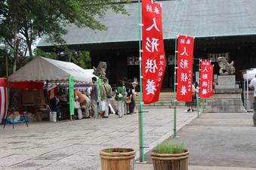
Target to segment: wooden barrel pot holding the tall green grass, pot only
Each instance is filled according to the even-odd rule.
[[[188,156],[189,151],[184,153],[154,153],[154,150],[150,152],[150,156],[153,159],[154,170],[187,170],[188,169]]]

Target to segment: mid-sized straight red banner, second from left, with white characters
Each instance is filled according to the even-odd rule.
[[[194,38],[177,39],[177,101],[192,101]]]

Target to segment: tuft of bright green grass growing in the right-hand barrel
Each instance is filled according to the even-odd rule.
[[[155,147],[155,153],[184,153],[184,142],[171,142],[164,141],[161,144],[157,144]]]

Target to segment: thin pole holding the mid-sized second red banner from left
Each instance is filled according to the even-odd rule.
[[[177,113],[177,110],[176,110],[176,107],[177,107],[177,100],[176,100],[176,71],[177,71],[177,33],[176,33],[176,36],[175,36],[175,59],[174,59],[174,127],[173,127],[173,137],[176,136],[176,113]]]

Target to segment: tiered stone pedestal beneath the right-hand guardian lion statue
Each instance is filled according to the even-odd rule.
[[[242,89],[236,84],[235,75],[218,76],[218,85],[215,85],[211,108],[208,113],[245,113],[242,105]]]

